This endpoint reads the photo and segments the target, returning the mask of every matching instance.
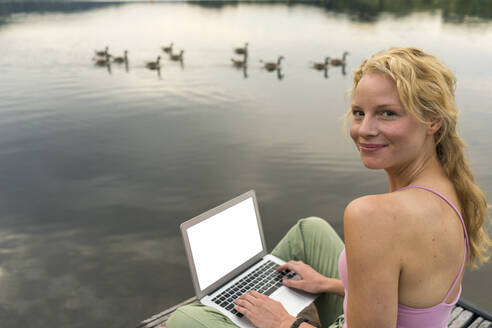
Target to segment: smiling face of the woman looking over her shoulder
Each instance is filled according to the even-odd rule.
[[[395,82],[382,73],[367,73],[352,100],[350,136],[370,169],[405,169],[425,156],[428,126],[403,108]]]

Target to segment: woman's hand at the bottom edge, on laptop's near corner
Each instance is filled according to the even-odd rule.
[[[258,328],[288,328],[296,320],[280,302],[254,290],[234,302],[236,311],[244,314]]]

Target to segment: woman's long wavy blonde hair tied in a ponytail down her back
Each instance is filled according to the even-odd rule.
[[[456,78],[436,57],[417,48],[390,48],[364,60],[354,72],[352,95],[366,73],[383,73],[396,83],[406,111],[425,124],[442,121],[435,134],[436,153],[453,183],[462,206],[462,216],[469,236],[471,267],[490,258],[492,241],[484,223],[489,220],[487,201],[475,183],[464,156],[465,143],[456,129],[459,110],[454,90]],[[349,117],[351,112],[347,113]]]

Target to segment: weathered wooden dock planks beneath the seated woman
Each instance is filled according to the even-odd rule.
[[[196,297],[191,297],[173,307],[153,315],[149,319],[142,321],[137,328],[158,328],[163,326],[169,316],[180,306],[196,302]],[[317,321],[317,313],[314,306],[309,306],[300,314],[302,317],[309,318],[310,321]],[[303,316],[302,314],[305,314]],[[318,327],[319,325],[318,321]],[[492,328],[492,315],[488,314],[472,304],[460,300],[454,307],[449,317],[448,328]]]

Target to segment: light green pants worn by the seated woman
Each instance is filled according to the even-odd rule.
[[[284,261],[303,261],[326,277],[338,278],[338,257],[343,242],[335,230],[323,219],[301,219],[282,238],[272,254]],[[316,308],[323,327],[341,327],[343,323],[343,298],[335,294],[322,294]],[[237,327],[229,318],[214,308],[194,303],[178,308],[167,320],[167,328],[231,328]]]

